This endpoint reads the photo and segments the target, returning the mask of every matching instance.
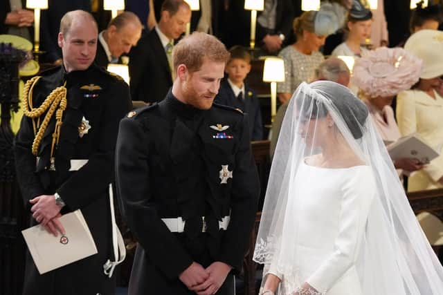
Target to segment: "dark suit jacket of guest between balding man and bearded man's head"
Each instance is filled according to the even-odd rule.
[[[129,75],[132,100],[160,102],[172,86],[168,57],[155,29],[129,53]]]

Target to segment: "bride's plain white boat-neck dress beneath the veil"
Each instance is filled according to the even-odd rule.
[[[285,277],[275,265],[269,272],[286,286],[307,282],[322,294],[363,294],[354,261],[376,191],[370,167],[327,169],[302,162],[293,187],[298,198],[289,202],[284,225],[297,236],[282,236],[282,244],[296,240],[298,278]]]

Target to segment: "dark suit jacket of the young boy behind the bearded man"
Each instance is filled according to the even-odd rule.
[[[220,90],[215,97],[217,104],[239,108],[248,115],[249,134],[251,140],[263,140],[262,112],[260,111],[260,102],[254,91],[245,84],[244,99],[239,100],[235,97],[233,88],[230,87],[228,80],[224,79],[220,84]]]

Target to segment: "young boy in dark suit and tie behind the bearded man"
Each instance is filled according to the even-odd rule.
[[[260,102],[254,91],[244,83],[244,79],[251,70],[251,55],[242,46],[234,46],[229,52],[230,59],[225,69],[228,77],[221,81],[215,102],[239,108],[247,113],[251,140],[262,140],[263,124]]]

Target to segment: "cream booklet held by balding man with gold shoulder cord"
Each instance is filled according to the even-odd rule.
[[[80,210],[60,217],[65,235],[55,237],[42,225],[21,231],[40,274],[97,254],[96,243]]]

